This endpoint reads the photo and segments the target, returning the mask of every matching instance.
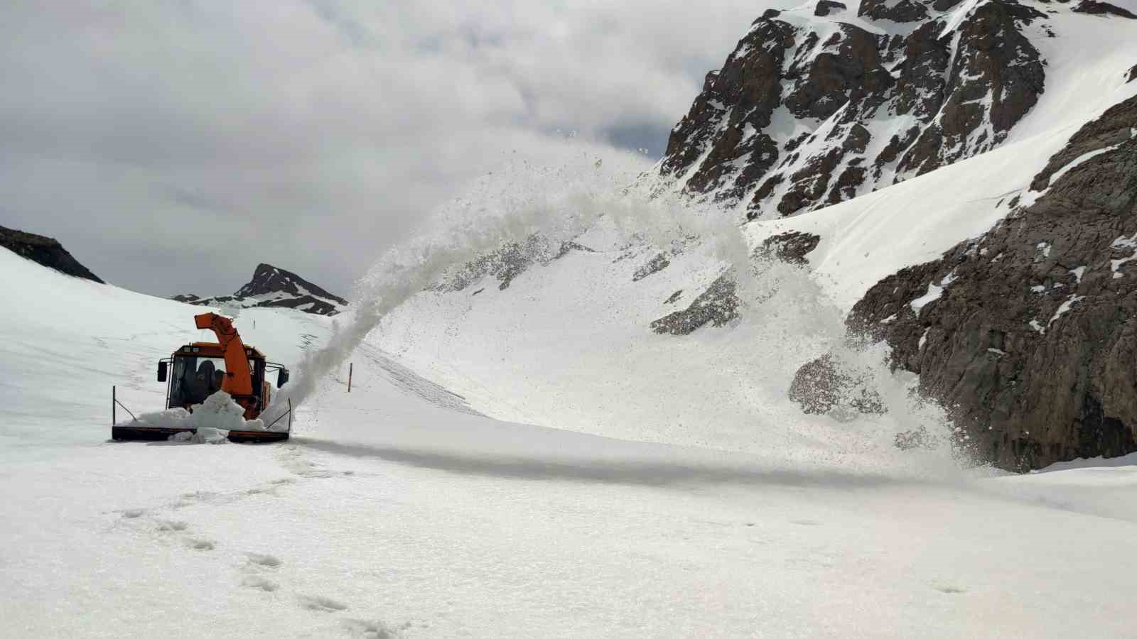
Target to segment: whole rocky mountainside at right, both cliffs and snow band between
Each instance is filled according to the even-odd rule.
[[[981,459],[1126,455],[1135,39],[1137,15],[1092,1],[769,11],[644,180],[745,210],[754,246],[810,239],[850,326],[887,339]]]

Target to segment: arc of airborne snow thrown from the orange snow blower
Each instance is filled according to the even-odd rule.
[[[744,398],[761,404],[758,416],[764,423],[732,424],[731,428],[745,432],[747,428],[761,430],[773,424],[790,433],[782,441],[800,446],[803,439],[812,440],[813,443],[800,446],[803,449],[812,446],[812,455],[828,456],[838,450],[837,456],[850,453],[861,458],[871,458],[874,451],[891,454],[890,440],[901,431],[926,428],[940,433],[945,430],[943,412],[935,406],[913,403],[912,380],[898,379],[883,365],[887,347],[852,346],[845,334],[844,313],[829,302],[812,273],[756,252],[755,241],[738,224],[736,210],[692,202],[688,198],[659,196],[664,189],[637,182],[634,171],[613,169],[621,164],[621,158],[614,161],[606,157],[597,163],[595,156],[588,153],[576,151],[571,156],[555,168],[514,163],[484,176],[465,197],[437,210],[430,218],[432,229],[414,241],[388,250],[357,282],[354,304],[348,313],[337,318],[329,343],[307,354],[280,399],[291,398],[293,405],[301,404],[316,383],[339,367],[389,313],[412,297],[439,285],[463,265],[504,244],[524,243],[534,235],[556,247],[603,224],[630,247],[662,250],[680,244],[686,247],[684,251],[698,251],[703,259],[717,264],[717,272],[736,282],[737,297],[742,305],[741,321],[730,330],[732,341],[720,345],[716,352],[737,364],[739,373],[729,380],[730,383],[749,384],[756,390],[721,397],[724,401]],[[647,333],[646,326],[644,333]],[[728,333],[711,331],[711,334]],[[858,371],[878,389],[877,401],[888,409],[887,418],[862,418],[850,414],[807,416],[786,399],[786,387],[795,370],[825,352]],[[709,382],[699,383],[707,388]],[[705,401],[715,401],[713,392],[717,390],[708,388],[712,395]],[[280,406],[274,403],[269,413],[279,410]],[[731,418],[729,410],[723,414],[724,418]],[[753,413],[747,416],[753,417]],[[673,416],[661,415],[659,418],[669,417]],[[787,422],[800,422],[802,425],[797,431],[787,430],[783,428]],[[699,428],[704,426],[707,424]],[[889,430],[883,438],[879,437],[882,430]],[[871,443],[870,431],[874,433]],[[756,434],[750,439],[761,437]],[[882,445],[882,439],[888,441]]]

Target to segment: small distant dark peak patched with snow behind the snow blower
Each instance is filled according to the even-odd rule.
[[[198,306],[294,308],[315,315],[335,315],[348,304],[346,299],[325,291],[296,273],[269,264],[257,265],[252,280],[232,296],[200,298],[194,294],[183,294],[174,296],[173,299]]]

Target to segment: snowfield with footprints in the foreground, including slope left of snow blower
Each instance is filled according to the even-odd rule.
[[[200,307],[8,251],[0,269],[5,636],[1132,632],[1132,465],[873,470],[667,443],[650,421],[625,439],[557,429],[580,412],[498,421],[479,414],[501,409],[493,392],[455,395],[377,334],[350,356],[351,393],[346,367],[321,379],[287,443],[114,443],[109,385],[160,407],[155,362],[201,337]],[[282,309],[236,323],[287,364],[331,330]]]

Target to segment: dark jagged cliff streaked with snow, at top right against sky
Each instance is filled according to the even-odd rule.
[[[657,190],[749,218],[852,199],[1002,143],[1038,101],[1046,15],[1015,0],[767,11],[674,127]]]

